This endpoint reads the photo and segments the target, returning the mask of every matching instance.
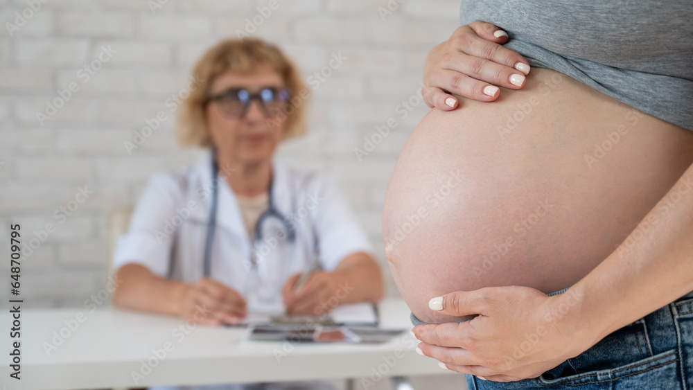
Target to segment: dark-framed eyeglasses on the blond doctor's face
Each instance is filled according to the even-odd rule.
[[[205,104],[216,102],[223,116],[231,119],[240,119],[247,114],[250,103],[258,100],[260,107],[267,118],[274,118],[289,101],[289,90],[277,87],[263,87],[256,93],[251,93],[245,88],[229,88],[219,94],[209,96]]]

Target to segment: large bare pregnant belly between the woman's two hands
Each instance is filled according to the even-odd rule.
[[[390,269],[419,319],[448,292],[576,283],[693,161],[693,132],[547,69],[494,103],[432,110],[385,196]]]

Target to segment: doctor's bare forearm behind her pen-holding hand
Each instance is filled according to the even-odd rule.
[[[376,261],[365,253],[344,258],[332,272],[337,281],[340,303],[378,301],[383,298],[383,276]]]

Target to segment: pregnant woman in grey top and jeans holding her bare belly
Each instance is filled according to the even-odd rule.
[[[493,25],[430,52],[383,211],[419,353],[470,389],[690,389],[693,6],[461,15]]]

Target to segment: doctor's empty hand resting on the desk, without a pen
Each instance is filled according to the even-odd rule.
[[[198,283],[185,287],[180,313],[189,321],[219,326],[222,323],[240,323],[247,316],[243,296],[222,283],[200,278]]]

